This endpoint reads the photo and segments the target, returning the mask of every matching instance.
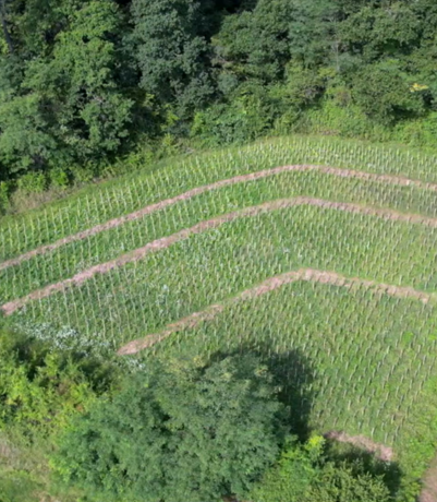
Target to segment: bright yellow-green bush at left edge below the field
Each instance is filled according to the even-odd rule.
[[[50,350],[3,330],[0,338],[0,422],[29,441],[49,437],[104,392],[110,376],[96,361]]]

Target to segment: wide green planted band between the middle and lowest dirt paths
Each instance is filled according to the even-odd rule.
[[[80,287],[31,302],[16,320],[72,326],[118,347],[267,277],[313,267],[436,290],[437,229],[314,206],[192,236]]]

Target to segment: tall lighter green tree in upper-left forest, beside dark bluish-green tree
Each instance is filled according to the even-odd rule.
[[[58,140],[74,146],[75,155],[85,160],[120,146],[128,135],[133,101],[117,83],[122,57],[117,4],[90,1],[73,11],[69,21],[70,29],[58,36],[49,73],[37,64],[31,67],[35,71],[31,83],[48,86],[47,98],[59,109]]]

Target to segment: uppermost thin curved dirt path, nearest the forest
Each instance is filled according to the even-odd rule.
[[[130,213],[124,216],[120,216],[119,218],[113,218],[110,219],[109,222],[106,222],[100,225],[96,225],[93,228],[89,228],[87,230],[83,230],[78,234],[74,234],[68,237],[64,237],[60,240],[57,240],[56,242],[51,244],[46,244],[41,246],[39,248],[36,248],[32,251],[28,251],[24,254],[21,254],[20,256],[12,258],[10,260],[5,260],[4,262],[0,263],[0,271],[8,268],[10,266],[19,265],[20,263],[29,260],[33,256],[36,256],[38,254],[45,254],[49,251],[53,251],[64,244],[68,244],[70,242],[74,242],[76,240],[82,240],[86,239],[87,237],[94,236],[96,234],[99,234],[105,230],[109,230],[111,228],[119,227],[126,222],[133,222],[135,219],[141,219],[143,216],[154,213],[156,211],[162,210],[165,207],[168,207],[170,205],[173,205],[178,202],[181,201],[186,201],[189,199],[194,198],[195,195],[199,195],[201,193],[208,192],[211,190],[217,190],[221,187],[228,187],[230,184],[235,184],[235,183],[242,183],[245,181],[253,181],[262,178],[267,178],[269,176],[275,176],[279,175],[281,172],[286,171],[319,171],[324,172],[327,175],[332,175],[332,176],[338,176],[342,178],[357,178],[357,179],[363,179],[363,180],[369,180],[369,181],[380,181],[385,183],[390,183],[390,184],[398,184],[398,186],[405,186],[405,187],[416,187],[421,189],[427,189],[427,190],[435,190],[437,191],[437,184],[436,183],[424,183],[423,181],[418,180],[412,180],[409,178],[404,178],[401,176],[392,176],[392,175],[376,175],[372,172],[363,172],[363,171],[355,171],[351,169],[340,169],[337,167],[326,167],[326,166],[314,166],[314,165],[296,165],[296,166],[281,166],[281,167],[276,167],[274,169],[265,169],[258,172],[251,172],[248,175],[241,175],[241,176],[235,176],[233,178],[229,178],[226,180],[217,181],[211,184],[205,184],[203,187],[197,187],[192,190],[189,190],[187,192],[181,193],[180,195],[175,195],[171,199],[166,199],[163,201],[157,202],[155,204],[147,205],[143,207],[142,210],[135,211],[134,213]]]

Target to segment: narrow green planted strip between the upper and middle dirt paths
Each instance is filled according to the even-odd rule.
[[[296,195],[354,202],[373,207],[437,216],[437,192],[384,182],[338,178],[317,171],[282,172],[236,183],[148,214],[138,220],[64,244],[44,255],[0,270],[0,303],[71,277],[199,220],[266,201]]]

